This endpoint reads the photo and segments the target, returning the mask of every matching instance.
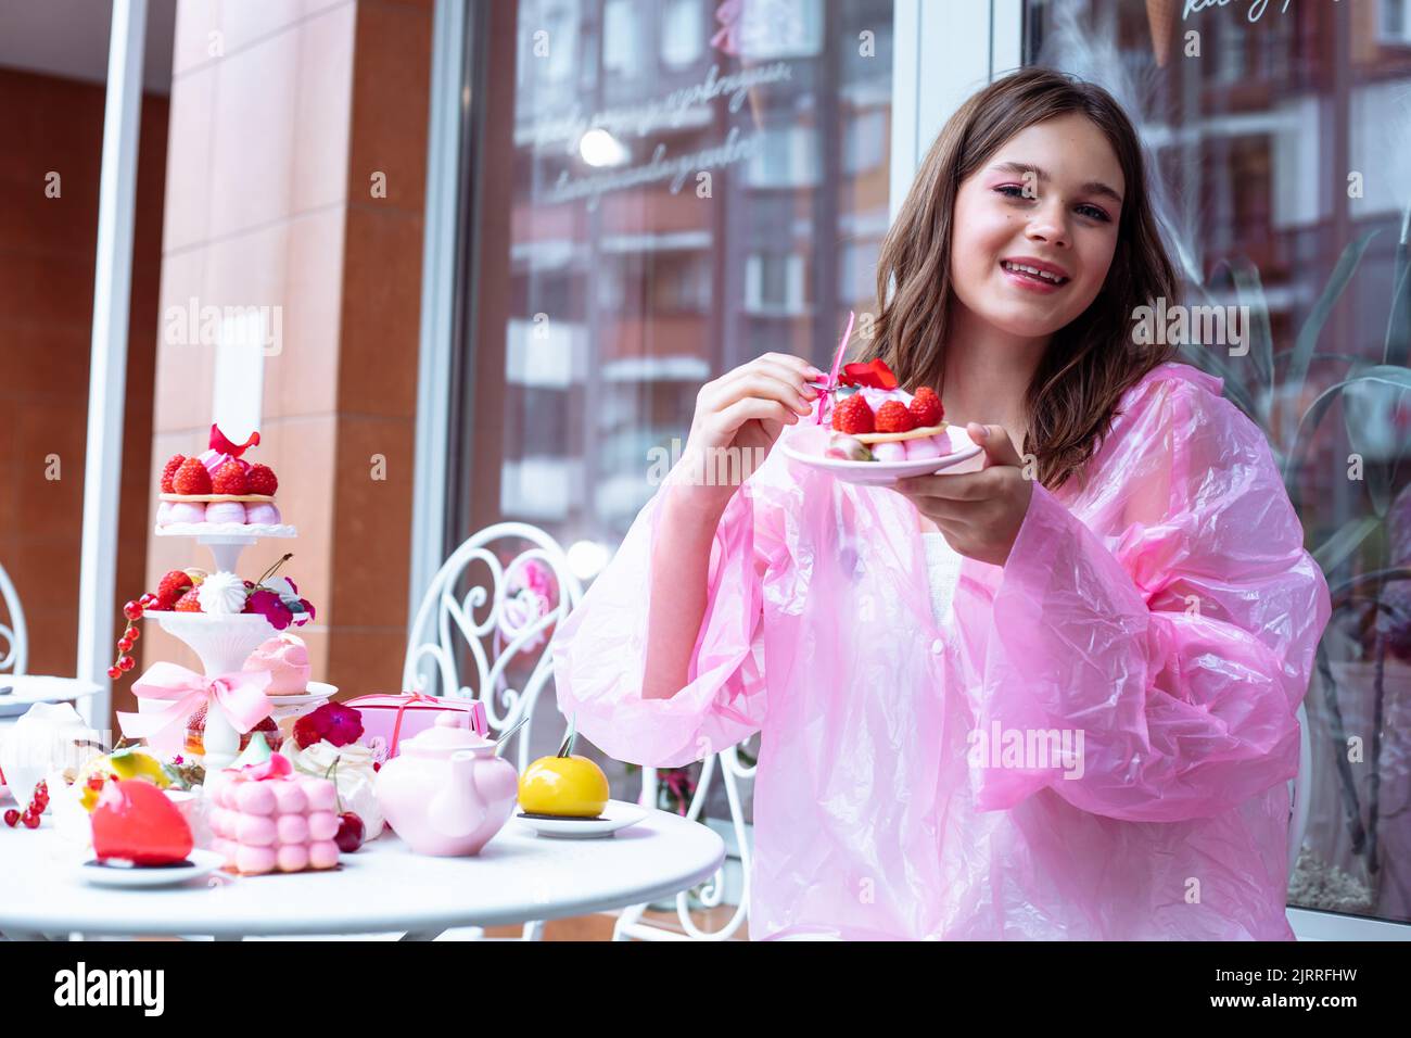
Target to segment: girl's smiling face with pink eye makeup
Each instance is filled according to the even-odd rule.
[[[1125,191],[1112,145],[1086,116],[1010,137],[955,198],[951,284],[959,305],[1015,336],[1057,332],[1108,277]]]

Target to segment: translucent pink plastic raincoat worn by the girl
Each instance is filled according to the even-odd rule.
[[[945,628],[912,504],[776,445],[672,699],[641,698],[662,496],[642,508],[555,638],[559,708],[645,765],[762,733],[752,936],[1292,939],[1328,586],[1219,378],[1163,364],[1120,410],[1086,490],[1036,483],[1005,566],[962,559]],[[1062,732],[1081,756],[1046,757]]]

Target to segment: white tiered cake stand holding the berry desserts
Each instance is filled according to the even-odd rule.
[[[210,549],[216,561],[214,572],[238,573],[240,554],[261,538],[292,538],[298,530],[291,525],[240,525],[233,523],[185,523],[157,527],[158,537],[195,537]],[[275,634],[274,626],[258,613],[219,616],[213,613],[151,612],[164,631],[181,638],[200,657],[207,679],[240,671],[246,660],[261,643]],[[159,708],[161,703],[157,703]],[[140,708],[141,709],[141,702]],[[240,754],[240,733],[214,699],[206,710],[205,765],[227,767]]]

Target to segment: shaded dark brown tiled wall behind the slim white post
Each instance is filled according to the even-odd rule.
[[[30,624],[31,674],[73,675],[78,664],[103,95],[102,85],[0,69],[0,565]],[[165,97],[143,97],[119,603],[145,568],[166,119]],[[61,177],[58,198],[45,196],[49,171]],[[59,458],[58,480],[47,477],[48,455]]]

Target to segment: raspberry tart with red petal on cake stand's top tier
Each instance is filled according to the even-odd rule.
[[[161,476],[157,525],[278,525],[281,518],[274,494],[279,480],[268,465],[251,465],[243,456],[258,443],[258,432],[250,434],[244,443],[233,443],[219,426],[212,425],[209,448],[203,453],[168,459]]]

